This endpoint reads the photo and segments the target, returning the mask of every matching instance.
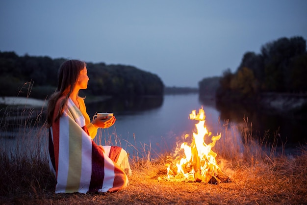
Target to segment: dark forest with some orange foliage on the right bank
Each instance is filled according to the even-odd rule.
[[[199,82],[200,96],[216,89],[216,100],[250,103],[261,93],[307,93],[307,51],[303,37],[266,43],[261,53],[246,52],[235,73]]]

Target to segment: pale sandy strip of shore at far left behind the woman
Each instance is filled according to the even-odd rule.
[[[0,104],[25,105],[29,107],[46,107],[47,101],[26,97],[0,97]]]

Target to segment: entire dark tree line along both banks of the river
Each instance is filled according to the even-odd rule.
[[[64,58],[18,56],[0,51],[0,96],[46,99],[56,89]],[[296,36],[266,43],[260,53],[248,51],[234,73],[206,77],[199,88],[165,87],[155,74],[127,65],[87,62],[90,78],[86,96],[137,96],[199,92],[219,102],[255,102],[262,93],[307,93],[306,40]]]

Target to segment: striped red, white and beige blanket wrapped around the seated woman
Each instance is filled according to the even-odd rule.
[[[71,99],[68,109],[52,124],[49,133],[49,165],[57,181],[56,193],[111,192],[128,185],[122,169],[125,167],[120,167],[123,163],[127,166],[126,151],[120,147],[98,146]]]

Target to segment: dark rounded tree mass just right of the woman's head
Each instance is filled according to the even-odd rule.
[[[117,96],[163,94],[164,85],[157,75],[133,66],[88,63],[87,68],[91,79],[90,91],[94,95],[102,95],[102,93]]]

